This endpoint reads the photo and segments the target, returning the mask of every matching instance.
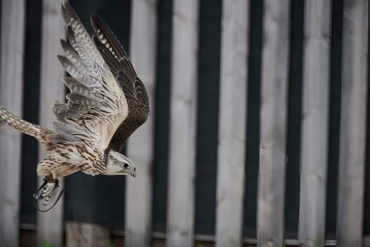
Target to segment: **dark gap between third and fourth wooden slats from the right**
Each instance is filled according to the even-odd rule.
[[[250,1],[249,20],[247,21],[247,25],[249,25],[249,58],[243,236],[256,238],[263,1]]]

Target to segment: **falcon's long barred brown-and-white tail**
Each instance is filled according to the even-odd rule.
[[[8,126],[11,126],[22,133],[32,135],[42,143],[46,140],[46,135],[54,133],[53,131],[49,131],[47,128],[42,128],[41,126],[20,119],[4,107],[0,107],[0,123],[6,123]]]

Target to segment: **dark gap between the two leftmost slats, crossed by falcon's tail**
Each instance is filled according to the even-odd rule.
[[[36,124],[39,123],[41,11],[41,1],[26,1],[23,119]],[[37,188],[36,167],[39,162],[38,153],[38,141],[30,135],[22,134],[20,185],[21,223],[36,224],[36,212],[33,207],[32,195]]]

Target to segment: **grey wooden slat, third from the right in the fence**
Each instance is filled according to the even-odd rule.
[[[259,246],[283,246],[289,10],[289,0],[264,1],[257,201]]]

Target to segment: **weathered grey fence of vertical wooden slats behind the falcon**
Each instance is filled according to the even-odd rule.
[[[125,246],[151,246],[152,239],[166,239],[167,246],[370,246],[363,234],[365,205],[366,133],[369,106],[369,1],[343,0],[342,66],[338,202],[336,238],[326,238],[326,185],[328,175],[331,72],[333,56],[333,3],[304,1],[302,59],[302,116],[300,116],[300,204],[297,239],[285,236],[285,181],[287,177],[288,97],[290,87],[289,0],[264,0],[261,45],[261,97],[259,104],[259,173],[257,238],[243,234],[247,150],[247,102],[251,68],[250,30],[254,0],[223,0],[219,73],[218,149],[215,234],[195,230],[197,184],[197,109],[199,95],[199,13],[202,1],[173,0],[171,28],[171,93],[166,232],[153,231],[154,138],[156,76],[161,0],[131,2],[129,54],[152,103],[152,115],[128,141],[127,155],[139,167],[136,179],[125,185]],[[303,0],[302,0],[303,1]],[[1,1],[0,104],[21,116],[25,56],[25,0]],[[42,1],[39,123],[51,128],[51,105],[63,100],[63,71],[56,54],[65,36],[60,13],[62,1]],[[204,3],[204,2],[203,2]],[[119,10],[117,10],[119,11]],[[85,23],[87,25],[87,23]],[[109,23],[110,24],[110,23]],[[204,47],[203,47],[204,48]],[[216,51],[215,51],[216,52]],[[218,82],[215,82],[218,83]],[[21,150],[20,133],[0,126],[0,246],[20,246]],[[39,158],[44,156],[39,152]],[[369,160],[367,161],[369,164]],[[68,191],[67,191],[68,192]],[[123,192],[121,192],[123,193]],[[65,224],[63,200],[48,213],[37,214],[37,246],[97,246],[109,231],[83,222]],[[210,209],[211,210],[211,209]],[[31,227],[32,228],[32,227]],[[85,230],[84,230],[85,229]],[[83,232],[85,231],[85,233]],[[64,239],[64,232],[67,236]],[[89,236],[83,240],[73,234]],[[87,234],[86,232],[89,232]],[[103,232],[103,233],[102,233]],[[117,231],[116,231],[117,233]],[[115,232],[111,232],[115,234]],[[89,240],[90,239],[90,240]],[[85,241],[85,242],[83,242]],[[90,242],[89,242],[90,241]],[[100,244],[100,243],[99,243]],[[102,241],[101,245],[108,244]],[[201,245],[199,245],[201,246]]]

